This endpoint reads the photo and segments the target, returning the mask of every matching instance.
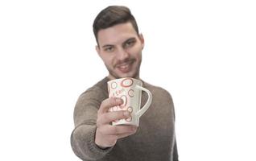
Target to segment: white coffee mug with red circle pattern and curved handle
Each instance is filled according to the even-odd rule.
[[[139,118],[150,107],[152,94],[148,89],[142,87],[142,81],[126,77],[108,81],[109,97],[119,97],[122,99],[122,105],[117,105],[109,111],[128,110],[130,118],[116,120],[112,125],[134,125],[138,126]],[[146,104],[141,108],[142,91],[148,95]]]

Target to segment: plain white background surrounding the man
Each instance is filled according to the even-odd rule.
[[[129,6],[144,35],[142,79],[173,97],[180,160],[256,160],[248,0],[1,1],[0,160],[80,160],[73,107],[107,75],[92,23],[112,4]]]

